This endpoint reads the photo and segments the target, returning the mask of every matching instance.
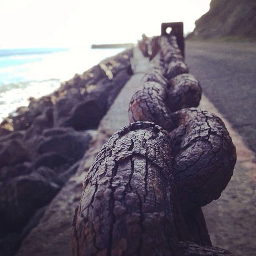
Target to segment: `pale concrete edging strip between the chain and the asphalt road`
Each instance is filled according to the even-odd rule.
[[[203,207],[213,246],[225,248],[237,256],[256,255],[256,163],[254,153],[243,138],[203,95],[200,108],[218,115],[225,123],[236,146],[234,174],[220,198]]]

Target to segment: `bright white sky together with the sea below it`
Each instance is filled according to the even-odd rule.
[[[82,73],[123,49],[92,44],[136,43],[160,34],[162,22],[183,21],[184,33],[206,13],[210,0],[0,1],[0,120],[28,97]],[[184,8],[186,6],[186,8]]]

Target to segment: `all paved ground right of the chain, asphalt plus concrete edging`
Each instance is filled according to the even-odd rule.
[[[203,96],[200,107],[223,119],[238,155],[227,188],[203,212],[212,244],[241,256],[256,255],[255,60],[256,44],[186,42],[190,72],[214,104]]]

